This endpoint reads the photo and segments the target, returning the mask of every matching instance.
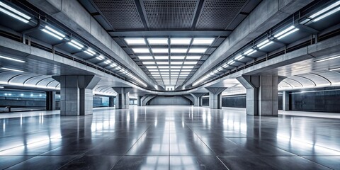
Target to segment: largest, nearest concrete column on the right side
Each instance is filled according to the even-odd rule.
[[[237,80],[246,88],[246,114],[278,115],[278,76],[242,76]]]

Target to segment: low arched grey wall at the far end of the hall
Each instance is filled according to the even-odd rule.
[[[147,105],[193,105],[193,103],[183,96],[156,96]]]

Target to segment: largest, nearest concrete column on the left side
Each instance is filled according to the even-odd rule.
[[[52,78],[60,82],[60,115],[91,115],[93,113],[92,89],[101,78],[86,75]]]

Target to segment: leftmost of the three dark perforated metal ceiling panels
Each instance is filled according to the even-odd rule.
[[[135,1],[94,0],[115,30],[144,29]]]

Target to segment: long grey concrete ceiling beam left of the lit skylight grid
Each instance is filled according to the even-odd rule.
[[[141,77],[147,84],[154,84],[145,72],[130,58],[128,54],[111,38],[106,30],[79,4],[78,1],[69,0],[28,0],[40,10],[52,16],[60,23],[73,30],[88,42],[99,47],[103,52],[111,55],[115,60],[128,66],[132,72]]]

